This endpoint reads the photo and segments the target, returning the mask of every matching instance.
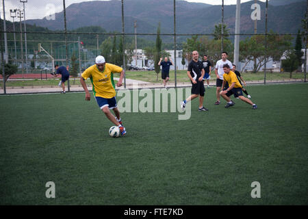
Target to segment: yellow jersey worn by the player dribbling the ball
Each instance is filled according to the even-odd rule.
[[[90,78],[94,96],[101,96],[110,99],[116,96],[112,73],[121,73],[122,70],[123,68],[119,66],[106,63],[104,70],[100,71],[99,68],[97,68],[97,65],[94,64],[87,68],[84,73],[81,74],[81,77],[85,80]]]

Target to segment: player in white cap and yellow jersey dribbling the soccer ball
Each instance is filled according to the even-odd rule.
[[[125,136],[125,127],[122,126],[120,112],[116,106],[116,90],[114,89],[113,73],[120,73],[120,79],[116,86],[122,86],[124,78],[123,68],[114,64],[106,63],[105,58],[99,55],[95,59],[95,64],[87,68],[81,74],[80,83],[86,91],[86,101],[90,101],[90,92],[86,86],[86,79],[90,78],[92,82],[92,90],[97,104],[107,116],[107,118],[120,128],[120,133]],[[114,116],[110,110],[114,110]]]

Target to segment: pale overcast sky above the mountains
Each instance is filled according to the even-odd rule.
[[[93,0],[66,0],[66,7],[68,7],[72,3],[79,3],[83,1],[93,1]],[[105,0],[101,0],[101,1],[105,1]],[[211,5],[221,5],[222,3],[221,0],[185,0],[185,1],[208,3]],[[241,0],[241,3],[244,3],[246,1],[252,1],[252,0]],[[261,1],[266,1],[266,0],[261,0]],[[4,2],[5,2],[5,18],[6,20],[12,21],[12,18],[10,17],[10,9],[15,9],[15,8],[22,9],[23,3],[20,3],[20,0],[5,0]],[[62,0],[28,0],[28,2],[25,3],[26,19],[44,18],[44,16],[51,14],[50,11],[52,10],[52,8],[47,8],[48,4],[51,4],[49,6],[53,7],[55,12],[61,12],[63,10]],[[225,5],[235,5],[236,0],[224,0],[224,4]],[[0,8],[1,8],[1,18],[3,18],[2,1],[1,1]]]

